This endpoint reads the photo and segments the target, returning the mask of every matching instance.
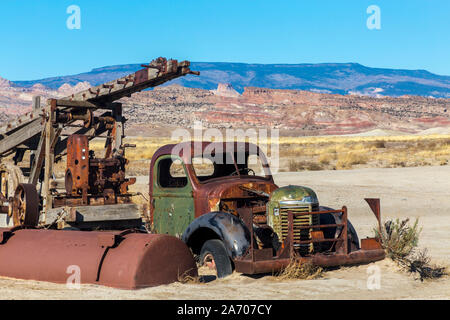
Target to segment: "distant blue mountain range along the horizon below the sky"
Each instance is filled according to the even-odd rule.
[[[141,64],[96,68],[77,75],[52,77],[33,81],[16,81],[20,87],[42,84],[58,89],[87,81],[99,85],[141,69]],[[450,76],[425,70],[370,68],[357,63],[321,64],[246,64],[226,62],[193,62],[191,69],[200,77],[187,76],[167,83],[190,88],[212,90],[219,83],[230,83],[238,92],[245,87],[298,89],[320,93],[358,94],[368,96],[416,95],[450,98]]]

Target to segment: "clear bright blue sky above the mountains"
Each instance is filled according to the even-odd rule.
[[[69,30],[70,5],[81,30]],[[381,30],[369,30],[369,5]],[[2,0],[0,76],[149,61],[358,62],[450,75],[448,0]]]

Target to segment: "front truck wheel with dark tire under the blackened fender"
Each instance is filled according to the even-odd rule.
[[[218,278],[225,278],[233,273],[230,258],[223,242],[217,239],[208,240],[200,251],[200,263],[216,269]]]

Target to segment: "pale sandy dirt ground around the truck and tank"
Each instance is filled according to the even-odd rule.
[[[322,205],[347,205],[360,238],[376,226],[364,197],[381,198],[382,218],[420,218],[420,247],[450,267],[450,166],[280,173],[278,185],[310,186]],[[138,179],[142,184],[146,179]],[[142,185],[141,187],[144,187]],[[381,286],[367,288],[368,267],[380,268]],[[202,284],[175,283],[137,291],[93,285],[68,289],[35,281],[0,279],[1,299],[450,299],[449,277],[415,280],[390,260],[325,272],[316,280],[279,281],[273,276],[230,277]]]

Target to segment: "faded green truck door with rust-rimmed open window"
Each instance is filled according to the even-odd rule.
[[[194,220],[194,197],[181,159],[161,156],[153,170],[153,228],[159,234],[181,237]]]

